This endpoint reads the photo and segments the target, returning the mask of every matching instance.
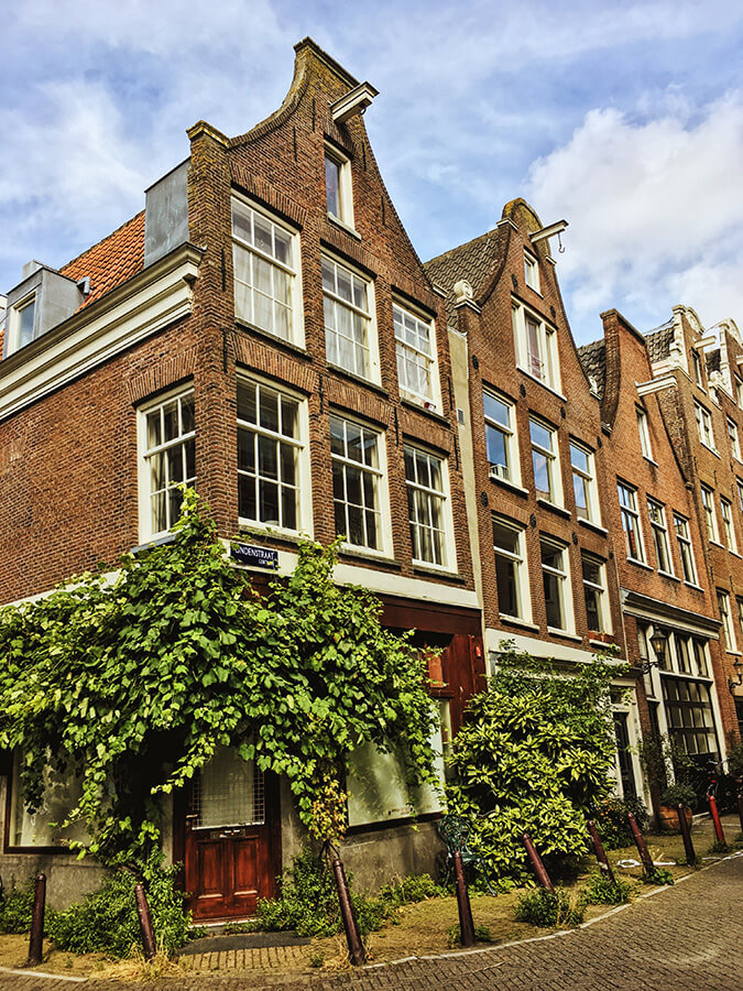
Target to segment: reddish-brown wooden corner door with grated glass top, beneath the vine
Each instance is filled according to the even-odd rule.
[[[253,915],[273,894],[275,782],[222,748],[192,786],[185,829],[186,891],[194,919]]]

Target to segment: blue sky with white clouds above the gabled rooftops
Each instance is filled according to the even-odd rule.
[[[309,34],[380,90],[367,127],[424,260],[525,196],[570,225],[579,342],[611,306],[743,329],[735,3],[24,0],[2,20],[0,292],[141,209],[196,120],[237,134],[274,110]]]

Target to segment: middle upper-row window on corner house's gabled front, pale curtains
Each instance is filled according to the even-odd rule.
[[[371,284],[340,262],[323,259],[325,347],[330,364],[362,379],[372,377]]]

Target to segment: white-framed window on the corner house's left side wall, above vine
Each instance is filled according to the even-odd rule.
[[[194,391],[160,400],[141,413],[140,520],[146,538],[167,533],[181,514],[181,486],[196,482]]]

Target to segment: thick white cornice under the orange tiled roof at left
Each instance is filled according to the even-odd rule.
[[[0,420],[187,316],[201,254],[182,244],[1,361]]]

